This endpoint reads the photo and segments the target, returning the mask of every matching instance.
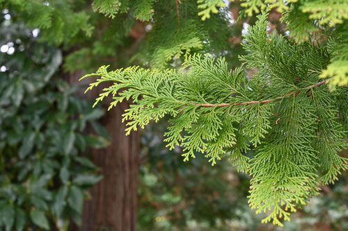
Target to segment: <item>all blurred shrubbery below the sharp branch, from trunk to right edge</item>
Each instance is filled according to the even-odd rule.
[[[322,187],[283,228],[262,224],[262,215],[247,203],[251,178],[237,173],[227,158],[215,166],[202,155],[182,162],[179,149],[165,147],[166,126],[156,123],[143,131],[139,230],[348,230],[347,172],[335,185]]]

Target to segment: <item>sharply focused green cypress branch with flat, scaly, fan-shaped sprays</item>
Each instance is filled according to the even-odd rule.
[[[97,102],[111,95],[109,109],[123,100],[127,134],[151,120],[171,116],[165,142],[182,146],[184,161],[204,153],[212,165],[230,157],[238,171],[252,176],[249,203],[271,210],[263,222],[282,225],[290,212],[318,194],[319,185],[337,180],[348,168],[337,153],[347,147],[347,87],[330,91],[318,78],[334,53],[325,46],[292,44],[267,33],[267,14],[244,35],[244,67],[228,69],[223,58],[189,56],[180,71],[128,67],[108,71],[87,90],[111,81]],[[250,160],[245,151],[253,148]]]

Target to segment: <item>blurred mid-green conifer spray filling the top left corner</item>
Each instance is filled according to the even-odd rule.
[[[90,16],[86,10],[81,9],[81,1],[76,2],[77,4],[66,0],[0,0],[0,6],[2,9],[15,10],[16,17],[22,19],[27,26],[42,29],[42,40],[62,44],[70,43],[80,31],[88,36],[92,34],[93,26],[88,22]],[[75,11],[76,9],[79,10]]]

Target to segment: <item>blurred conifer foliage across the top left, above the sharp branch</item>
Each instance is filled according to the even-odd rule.
[[[204,10],[198,8],[202,4],[196,0],[102,0],[93,1],[91,7],[84,1],[0,0],[1,8],[9,9],[10,14],[16,12],[11,20],[24,19],[27,26],[40,28],[41,40],[63,44],[65,49],[79,44],[79,49],[74,47],[69,52],[64,67],[67,71],[88,72],[104,63],[116,65],[116,56],[117,67],[136,62],[163,68],[180,65],[182,56],[190,53],[232,54],[228,9],[219,8],[219,13],[203,22],[198,15]],[[92,9],[111,19],[93,13]],[[139,35],[129,34],[138,26]],[[229,63],[235,62],[237,53],[233,55],[228,55]]]

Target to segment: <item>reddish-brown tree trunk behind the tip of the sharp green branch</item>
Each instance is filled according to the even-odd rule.
[[[80,78],[81,74],[70,75],[70,84],[76,83],[75,77]],[[95,99],[104,87],[93,89],[88,99]],[[104,101],[104,105],[109,105],[111,99]],[[128,107],[128,103],[123,102],[106,112],[102,124],[112,137],[111,145],[90,150],[104,178],[90,190],[91,199],[84,203],[80,231],[136,230],[140,142],[136,132],[125,136],[126,126],[121,121]]]

